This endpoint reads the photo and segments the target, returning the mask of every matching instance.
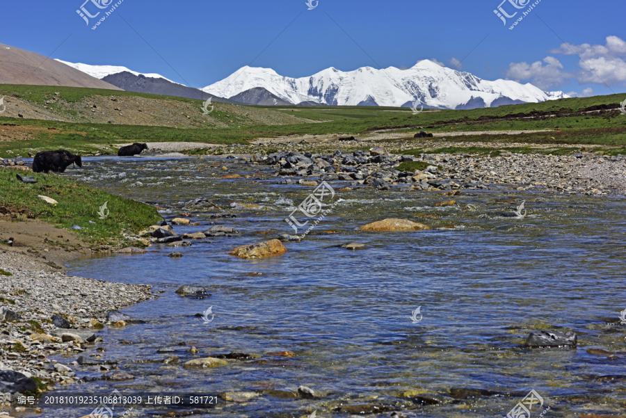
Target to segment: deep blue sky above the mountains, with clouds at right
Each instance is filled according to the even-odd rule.
[[[328,67],[411,67],[435,58],[450,67],[463,60],[460,68],[482,79],[579,95],[626,92],[623,1],[541,0],[513,30],[508,27],[527,7],[517,10],[510,1],[535,0],[507,0],[503,10],[518,13],[506,26],[493,12],[501,0],[319,0],[314,10],[305,0],[123,0],[96,30],[90,28],[109,8],[87,26],[76,13],[83,1],[6,1],[0,42],[63,61],[155,72],[194,87],[250,63],[305,77]],[[100,11],[91,0],[85,8]],[[563,41],[578,56],[570,48],[559,51]]]

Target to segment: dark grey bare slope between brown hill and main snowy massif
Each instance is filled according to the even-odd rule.
[[[182,84],[173,83],[168,79],[145,77],[143,74],[131,74],[125,71],[118,74],[110,74],[102,79],[107,83],[118,86],[126,91],[135,93],[150,93],[153,95],[186,97],[187,99],[207,100],[211,97],[212,102],[232,103],[234,100],[223,99],[222,97],[211,96],[197,88],[183,86]]]

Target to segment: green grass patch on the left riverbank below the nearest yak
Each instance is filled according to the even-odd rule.
[[[79,225],[83,230],[72,232],[95,244],[126,243],[122,229],[138,232],[161,220],[154,207],[84,186],[62,175],[32,173],[38,184],[24,184],[15,174],[15,170],[0,170],[0,209],[62,228]],[[53,198],[58,204],[49,204],[38,195]],[[110,214],[99,219],[97,211],[104,202],[108,202]]]

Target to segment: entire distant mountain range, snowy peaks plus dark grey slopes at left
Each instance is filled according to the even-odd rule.
[[[298,79],[281,76],[269,68],[246,66],[202,90],[175,83],[161,74],[143,74],[127,67],[56,62],[101,79],[109,88],[115,86],[137,93],[190,99],[212,97],[216,102],[262,106],[299,104],[471,109],[569,97],[560,91],[545,92],[530,83],[479,79],[469,72],[452,70],[429,60],[419,61],[406,70],[362,67],[343,72],[330,67],[311,77]]]

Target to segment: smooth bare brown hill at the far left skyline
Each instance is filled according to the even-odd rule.
[[[35,52],[0,44],[0,83],[122,90]]]

